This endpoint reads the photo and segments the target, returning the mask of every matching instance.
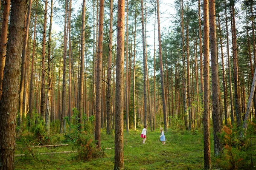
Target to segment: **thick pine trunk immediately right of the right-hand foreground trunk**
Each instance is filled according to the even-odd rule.
[[[215,23],[215,0],[209,0],[209,27],[210,27],[210,47],[212,60],[212,119],[214,155],[220,156],[223,153],[222,143],[218,133],[221,133],[221,113],[219,99],[219,78],[218,78],[218,56]]]

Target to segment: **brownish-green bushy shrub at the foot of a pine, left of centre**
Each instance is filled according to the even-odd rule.
[[[96,141],[90,139],[90,137],[85,135],[84,132],[79,133],[79,137],[76,140],[74,148],[77,148],[78,155],[76,158],[78,160],[90,161],[104,156],[103,150],[96,147]]]

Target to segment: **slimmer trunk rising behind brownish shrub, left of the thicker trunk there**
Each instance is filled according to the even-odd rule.
[[[82,28],[81,28],[81,64],[80,64],[80,80],[79,80],[79,95],[78,95],[78,123],[79,130],[82,128],[82,113],[83,113],[83,93],[84,93],[84,29],[85,29],[85,0],[82,6]]]

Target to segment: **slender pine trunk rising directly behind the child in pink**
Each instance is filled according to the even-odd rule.
[[[144,33],[144,14],[143,0],[141,0],[141,23],[142,23],[142,44],[143,44],[143,93],[144,93],[144,126],[147,125],[147,93],[146,93],[146,52],[145,52],[145,33]]]

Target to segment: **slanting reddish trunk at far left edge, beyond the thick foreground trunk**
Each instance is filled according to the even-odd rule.
[[[0,100],[2,96],[3,86],[3,70],[6,60],[6,45],[7,45],[7,31],[9,23],[9,12],[10,12],[10,0],[5,0],[3,3],[3,22],[1,26],[1,37],[0,37]]]

